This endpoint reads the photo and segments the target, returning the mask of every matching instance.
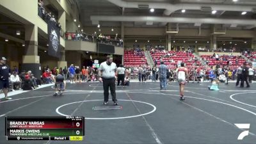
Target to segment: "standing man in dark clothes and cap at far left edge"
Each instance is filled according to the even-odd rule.
[[[8,67],[8,65],[6,65],[6,58],[2,57],[0,59],[0,89],[3,89],[4,97],[6,100],[12,99],[7,96],[10,72],[11,72],[10,67]]]

